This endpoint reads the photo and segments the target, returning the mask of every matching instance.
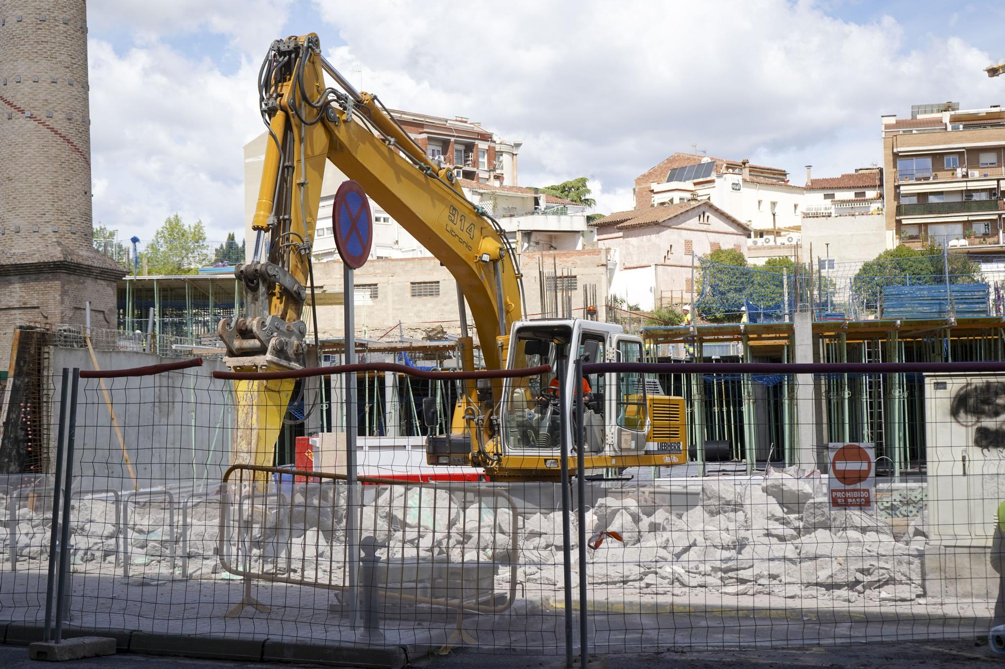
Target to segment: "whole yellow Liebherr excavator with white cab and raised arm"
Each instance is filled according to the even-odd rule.
[[[228,367],[274,372],[307,365],[300,312],[313,284],[311,243],[325,162],[332,161],[456,279],[461,322],[466,298],[485,369],[550,365],[555,371],[466,388],[451,432],[428,438],[428,464],[480,467],[495,480],[557,480],[559,419],[573,411],[573,393],[560,400],[556,373],[565,375],[567,388],[581,384],[586,393],[581,455],[587,470],[686,461],[681,398],[662,395],[652,380],[647,387],[638,374],[573,379],[571,361],[578,358],[641,361],[641,340],[595,320],[524,318],[519,258],[506,232],[467,200],[453,171],[432,162],[376,95],[357,91],[323,57],[316,34],[272,42],[258,86],[268,139],[253,255],[235,269],[244,315],[218,327]],[[473,370],[473,341],[462,326],[461,364]],[[235,382],[235,463],[272,464],[293,385]],[[572,452],[572,435],[566,441]]]

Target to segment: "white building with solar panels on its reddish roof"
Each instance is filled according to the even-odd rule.
[[[635,209],[708,200],[752,230],[798,240],[804,191],[781,168],[676,153],[635,178]]]

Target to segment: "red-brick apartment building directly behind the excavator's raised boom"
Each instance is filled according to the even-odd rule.
[[[463,117],[444,119],[390,109],[401,127],[432,160],[453,169],[458,179],[496,186],[517,185],[522,143],[506,142]]]

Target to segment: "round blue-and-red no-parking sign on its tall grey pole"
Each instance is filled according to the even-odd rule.
[[[373,217],[370,201],[363,187],[355,181],[346,181],[335,194],[332,207],[332,227],[335,245],[343,262],[343,313],[345,315],[344,363],[356,362],[356,300],[355,272],[370,256],[373,244]],[[346,384],[346,547],[349,562],[349,618],[355,627],[359,612],[359,586],[357,572],[360,566],[360,537],[356,509],[356,436],[358,408],[356,406],[356,373],[349,372]]]

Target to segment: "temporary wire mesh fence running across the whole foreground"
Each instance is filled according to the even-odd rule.
[[[653,377],[667,367],[630,369]],[[676,367],[693,370],[685,384],[710,383],[703,367]],[[646,397],[631,404],[631,420],[591,399],[584,422],[596,434],[584,452],[608,433],[615,447],[659,451],[660,442],[617,436],[659,427],[661,414],[645,413],[660,406],[648,397],[657,386],[620,383],[625,364],[587,368],[594,392]],[[692,399],[686,461],[589,470],[582,492],[572,486],[568,539],[561,483],[429,465],[415,437],[393,444],[358,425],[351,483],[344,429],[312,409],[317,380],[301,393],[279,380],[249,389],[201,368],[81,379],[66,625],[556,655],[568,639],[617,653],[985,635],[1005,623],[1005,374],[860,368],[720,366],[737,393],[752,375],[779,377],[791,397],[787,441],[761,457],[759,440],[775,434],[763,423],[783,414],[747,403],[724,429],[721,412]],[[823,401],[845,375],[886,395],[910,375],[920,404],[887,412],[877,424],[884,441],[867,441],[855,424],[867,416]],[[304,402],[300,418],[262,413],[277,394],[283,408]],[[434,404],[429,431],[440,422]],[[382,412],[383,429],[407,435],[418,418],[406,423],[410,413]],[[567,418],[575,435],[576,414]],[[909,424],[917,458],[894,466]],[[289,451],[275,447],[283,432]],[[736,448],[738,436],[754,447]],[[571,437],[566,452],[573,472],[578,444]],[[545,448],[561,457],[556,444]],[[10,480],[0,616],[41,624],[55,479]],[[585,597],[573,587],[580,575]],[[567,614],[585,620],[585,635],[567,632]]]

